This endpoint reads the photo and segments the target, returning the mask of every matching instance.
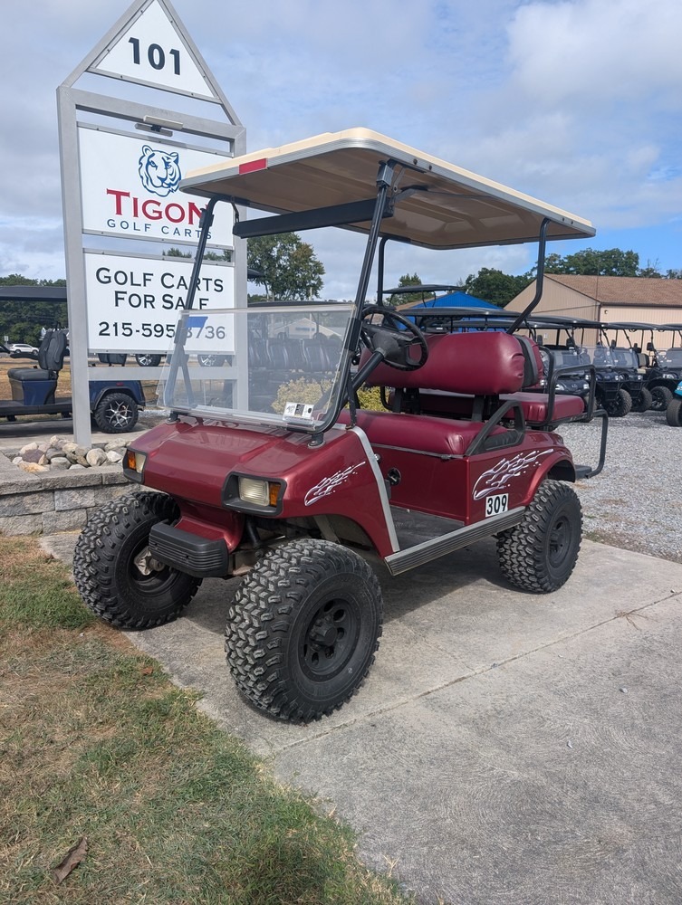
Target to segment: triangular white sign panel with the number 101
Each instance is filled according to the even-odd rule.
[[[156,0],[91,71],[216,100],[193,54]]]

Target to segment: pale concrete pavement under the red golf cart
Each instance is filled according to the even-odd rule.
[[[69,562],[74,541],[43,545]],[[207,580],[178,622],[130,639],[419,901],[679,905],[682,565],[583,541],[552,595],[507,586],[492,541],[398,578],[374,565],[377,662],[309,726],[235,690],[235,581]]]

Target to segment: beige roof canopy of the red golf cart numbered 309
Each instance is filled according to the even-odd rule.
[[[281,228],[273,224],[267,233],[329,225],[369,233],[370,202],[373,205],[377,195],[379,167],[387,162],[395,165],[395,205],[381,222],[382,236],[441,249],[534,242],[545,218],[547,239],[595,233],[581,217],[370,129],[325,132],[233,157],[192,171],[180,187],[194,195],[290,214],[282,218]],[[348,207],[353,204],[358,205],[355,219]],[[235,234],[264,233],[258,232],[256,221],[249,221],[237,224]]]

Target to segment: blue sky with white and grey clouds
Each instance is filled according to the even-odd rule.
[[[174,0],[249,151],[364,126],[591,220],[589,240],[682,268],[678,0]],[[0,0],[0,275],[65,275],[55,90],[126,0]],[[113,80],[87,77],[90,90]],[[80,85],[79,85],[80,87]],[[168,95],[168,107],[173,106]],[[302,236],[351,298],[360,237]],[[530,245],[387,252],[387,281],[528,271]]]

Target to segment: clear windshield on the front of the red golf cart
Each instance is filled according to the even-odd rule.
[[[185,311],[159,399],[215,421],[324,430],[339,404],[350,304]]]

